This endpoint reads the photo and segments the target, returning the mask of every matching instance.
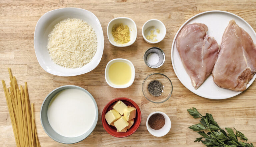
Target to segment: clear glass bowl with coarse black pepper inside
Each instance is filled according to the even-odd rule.
[[[164,74],[154,73],[147,76],[142,83],[142,93],[153,103],[163,103],[172,95],[172,82]]]

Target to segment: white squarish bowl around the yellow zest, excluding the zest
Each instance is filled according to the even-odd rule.
[[[125,44],[119,44],[119,43],[115,42],[114,37],[112,35],[113,26],[115,24],[121,24],[121,23],[124,26],[127,25],[130,30],[130,41]],[[129,46],[129,45],[133,44],[137,38],[137,27],[136,27],[135,22],[130,18],[127,18],[127,17],[114,18],[108,23],[107,35],[108,35],[108,40],[112,45],[117,46],[117,47]]]

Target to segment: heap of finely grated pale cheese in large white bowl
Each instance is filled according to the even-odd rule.
[[[97,50],[97,36],[92,26],[80,19],[65,19],[48,36],[48,51],[54,63],[79,68],[89,63]]]

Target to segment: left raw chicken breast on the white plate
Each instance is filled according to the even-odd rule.
[[[218,43],[207,31],[205,24],[194,23],[185,26],[177,37],[176,47],[195,89],[212,73],[219,52]]]

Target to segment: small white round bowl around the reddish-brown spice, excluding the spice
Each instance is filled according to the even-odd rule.
[[[150,116],[152,116],[153,114],[156,114],[156,113],[162,114],[165,118],[165,124],[159,130],[152,129],[148,124],[148,120],[149,120]],[[162,137],[162,136],[166,135],[171,129],[171,120],[170,120],[169,116],[166,115],[164,112],[160,112],[160,111],[156,111],[156,112],[149,114],[146,123],[147,123],[146,125],[147,125],[147,129],[148,129],[149,133],[156,137]]]

